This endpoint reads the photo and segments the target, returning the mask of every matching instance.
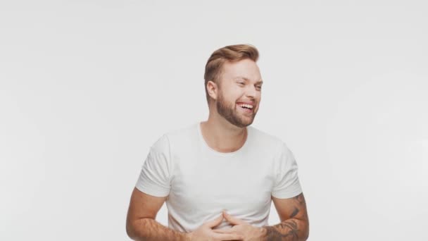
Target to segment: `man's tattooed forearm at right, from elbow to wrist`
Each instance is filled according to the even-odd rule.
[[[308,221],[289,218],[277,225],[262,228],[262,240],[266,241],[304,241],[308,239]]]

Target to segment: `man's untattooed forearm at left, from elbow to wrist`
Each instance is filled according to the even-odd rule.
[[[152,218],[141,218],[127,228],[127,235],[137,241],[187,240],[187,234],[172,230]]]

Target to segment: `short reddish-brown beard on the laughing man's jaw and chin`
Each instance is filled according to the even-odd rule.
[[[216,107],[217,112],[220,114],[220,116],[225,118],[232,125],[236,125],[239,128],[245,128],[248,125],[251,125],[251,123],[253,123],[254,121],[254,117],[256,117],[255,112],[251,113],[251,116],[246,116],[242,113],[239,113],[237,110],[237,104],[227,103],[221,93],[218,96]],[[256,108],[256,106],[254,106],[253,108]]]

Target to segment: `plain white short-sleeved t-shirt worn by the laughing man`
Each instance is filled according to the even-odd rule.
[[[135,185],[166,197],[168,227],[191,232],[226,210],[261,227],[267,223],[271,195],[302,192],[297,164],[279,138],[251,126],[244,146],[222,153],[208,147],[196,123],[160,137],[151,147]],[[215,228],[230,228],[227,221]]]

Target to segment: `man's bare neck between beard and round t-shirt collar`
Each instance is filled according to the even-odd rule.
[[[201,132],[208,146],[217,152],[235,152],[247,137],[247,128],[232,125],[218,113],[210,113],[208,121],[201,122]]]

